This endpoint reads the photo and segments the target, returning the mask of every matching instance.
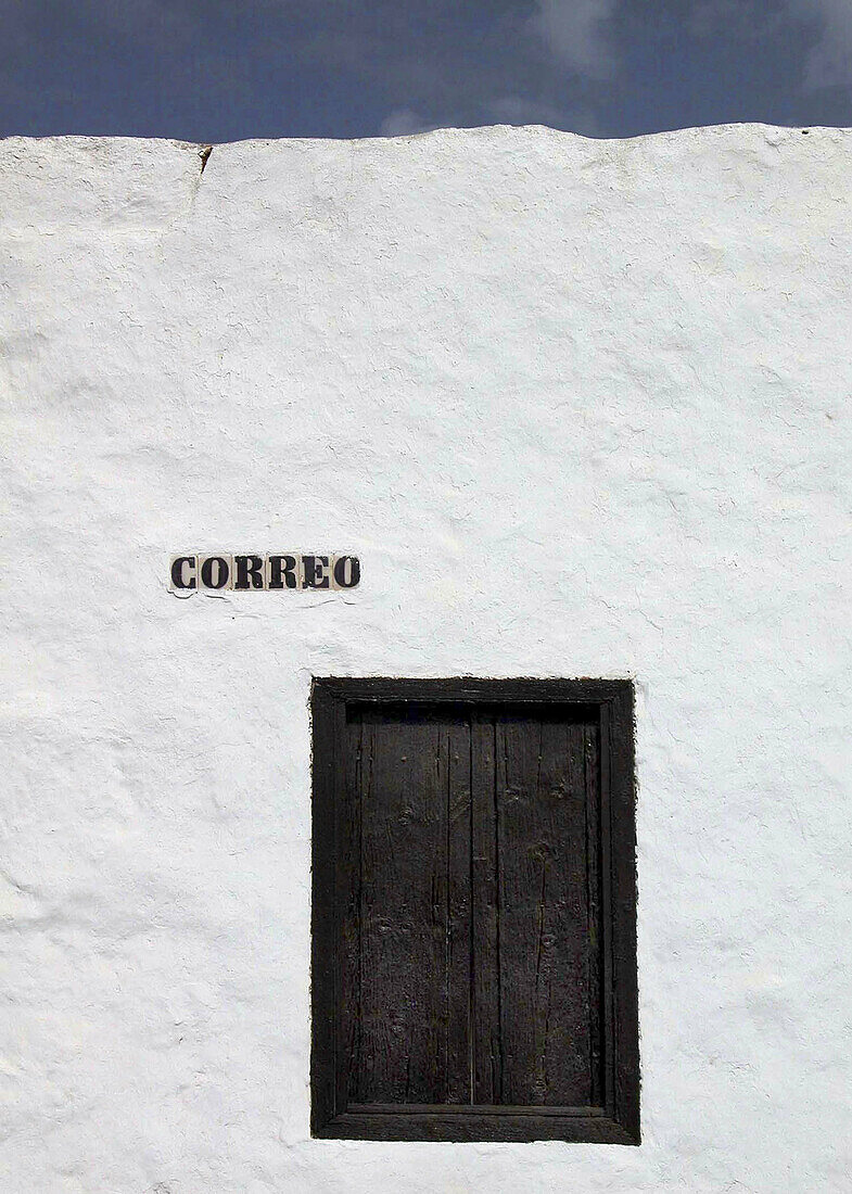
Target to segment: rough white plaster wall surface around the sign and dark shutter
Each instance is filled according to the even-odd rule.
[[[0,147],[0,1186],[848,1190],[852,133],[199,167]],[[638,1149],[309,1138],[310,677],[462,672],[636,677]]]

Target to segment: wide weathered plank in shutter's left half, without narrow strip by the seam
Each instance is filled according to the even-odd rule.
[[[453,961],[447,731],[416,710],[365,709],[359,719],[360,1027],[350,1098],[442,1103]]]

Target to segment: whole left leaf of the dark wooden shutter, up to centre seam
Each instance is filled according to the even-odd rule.
[[[468,1103],[469,725],[357,709],[346,743],[348,1100]]]

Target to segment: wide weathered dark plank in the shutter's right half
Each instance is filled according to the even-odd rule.
[[[495,722],[502,1102],[592,1102],[584,733]]]

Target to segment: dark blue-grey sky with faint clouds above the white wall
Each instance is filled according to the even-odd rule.
[[[852,124],[852,0],[0,0],[0,135]]]

